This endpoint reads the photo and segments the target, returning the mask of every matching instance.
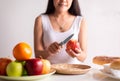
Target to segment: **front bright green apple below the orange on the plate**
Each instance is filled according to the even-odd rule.
[[[23,65],[21,62],[13,61],[7,65],[6,73],[8,76],[19,77],[23,73]]]

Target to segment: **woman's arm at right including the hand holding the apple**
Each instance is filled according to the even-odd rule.
[[[79,61],[83,62],[87,57],[87,28],[84,19],[82,19],[80,26],[81,26],[80,32],[78,35],[80,49],[79,48],[75,49],[77,53],[75,53],[71,49],[70,50],[66,49],[66,51],[71,57],[76,57]]]

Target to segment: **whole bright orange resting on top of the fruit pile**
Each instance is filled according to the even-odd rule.
[[[28,60],[32,56],[32,48],[25,42],[18,43],[13,49],[13,56],[16,60]]]

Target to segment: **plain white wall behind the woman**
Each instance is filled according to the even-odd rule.
[[[13,58],[13,47],[21,41],[29,43],[33,49],[34,20],[45,12],[47,1],[0,0],[0,57]],[[91,64],[92,58],[97,55],[119,56],[120,1],[79,2],[88,26],[88,56],[85,62]]]

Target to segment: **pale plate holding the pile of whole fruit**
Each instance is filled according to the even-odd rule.
[[[8,76],[0,76],[0,79],[7,80],[7,81],[33,81],[33,80],[40,80],[45,77],[48,77],[54,74],[56,70],[52,69],[50,73],[43,74],[43,75],[35,75],[35,76],[22,76],[22,77],[8,77]]]

